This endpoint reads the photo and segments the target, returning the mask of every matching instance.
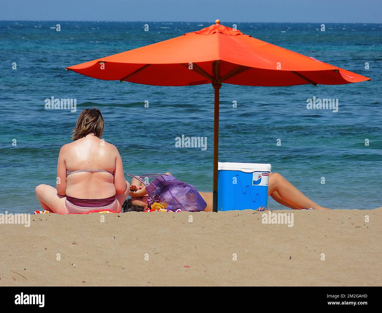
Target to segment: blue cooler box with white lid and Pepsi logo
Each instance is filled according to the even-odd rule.
[[[218,211],[266,206],[269,172],[270,164],[219,162]]]

